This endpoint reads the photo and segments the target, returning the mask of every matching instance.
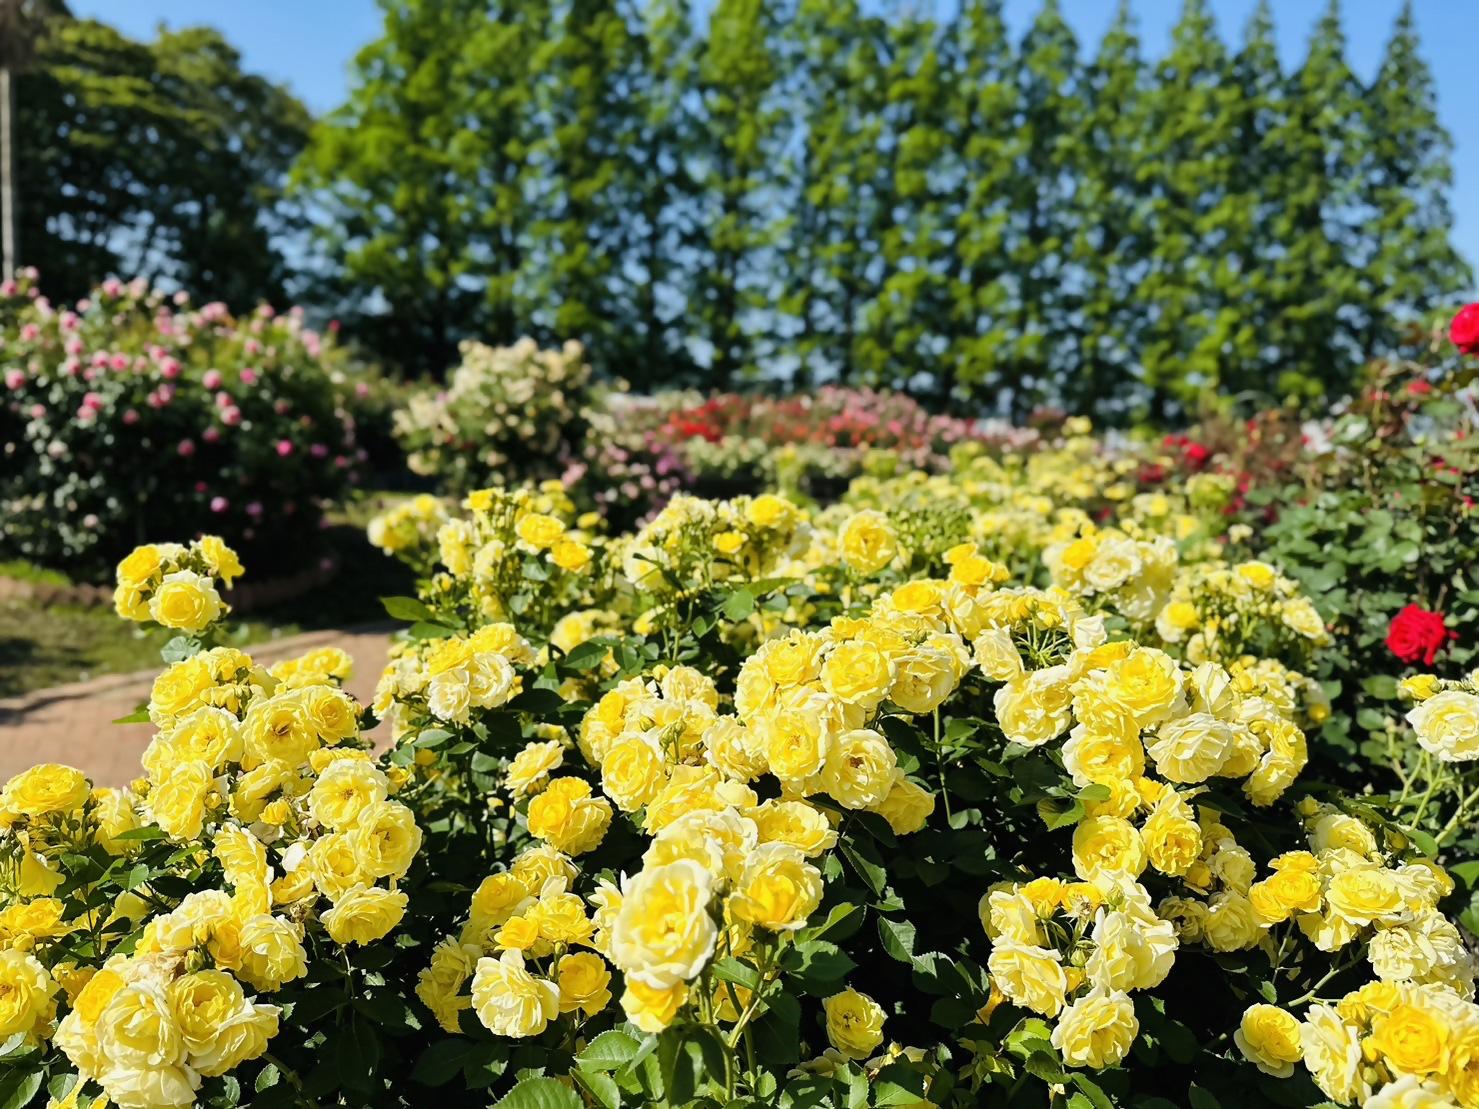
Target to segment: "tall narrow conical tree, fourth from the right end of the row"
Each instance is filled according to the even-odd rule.
[[[1233,87],[1205,0],[1186,0],[1155,68],[1142,176],[1152,248],[1136,300],[1145,312],[1142,383],[1167,418],[1220,381],[1239,306],[1225,254],[1236,198]]]

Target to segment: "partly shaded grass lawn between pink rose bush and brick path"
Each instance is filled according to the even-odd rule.
[[[331,513],[333,526],[324,532],[324,540],[339,554],[339,574],[297,600],[232,621],[241,634],[240,646],[383,620],[382,596],[414,591],[410,571],[364,537],[365,522],[383,500],[367,494]],[[247,572],[251,572],[250,565]],[[0,562],[0,574],[65,583],[62,575],[24,562]],[[108,606],[0,602],[0,696],[84,682],[98,674],[149,670],[158,665],[160,646],[167,639],[164,631],[146,633],[120,620]]]

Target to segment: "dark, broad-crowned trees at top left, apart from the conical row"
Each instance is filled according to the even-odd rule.
[[[282,177],[308,111],[216,31],[143,43],[53,15],[15,98],[19,257],[52,296],[143,275],[237,309],[285,299]]]

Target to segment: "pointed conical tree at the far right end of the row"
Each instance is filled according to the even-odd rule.
[[[1418,52],[1411,0],[1402,4],[1367,92],[1371,143],[1362,170],[1367,316],[1362,347],[1399,343],[1396,325],[1445,306],[1473,274],[1452,247],[1452,140],[1438,121],[1433,75]]]

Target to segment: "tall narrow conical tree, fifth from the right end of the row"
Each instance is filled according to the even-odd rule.
[[[1134,282],[1149,237],[1136,172],[1142,164],[1146,80],[1128,0],[1121,0],[1099,52],[1084,72],[1084,114],[1075,135],[1081,154],[1074,208],[1072,269],[1078,290],[1077,358],[1063,380],[1072,411],[1123,416],[1117,396],[1131,377],[1137,324]]]

